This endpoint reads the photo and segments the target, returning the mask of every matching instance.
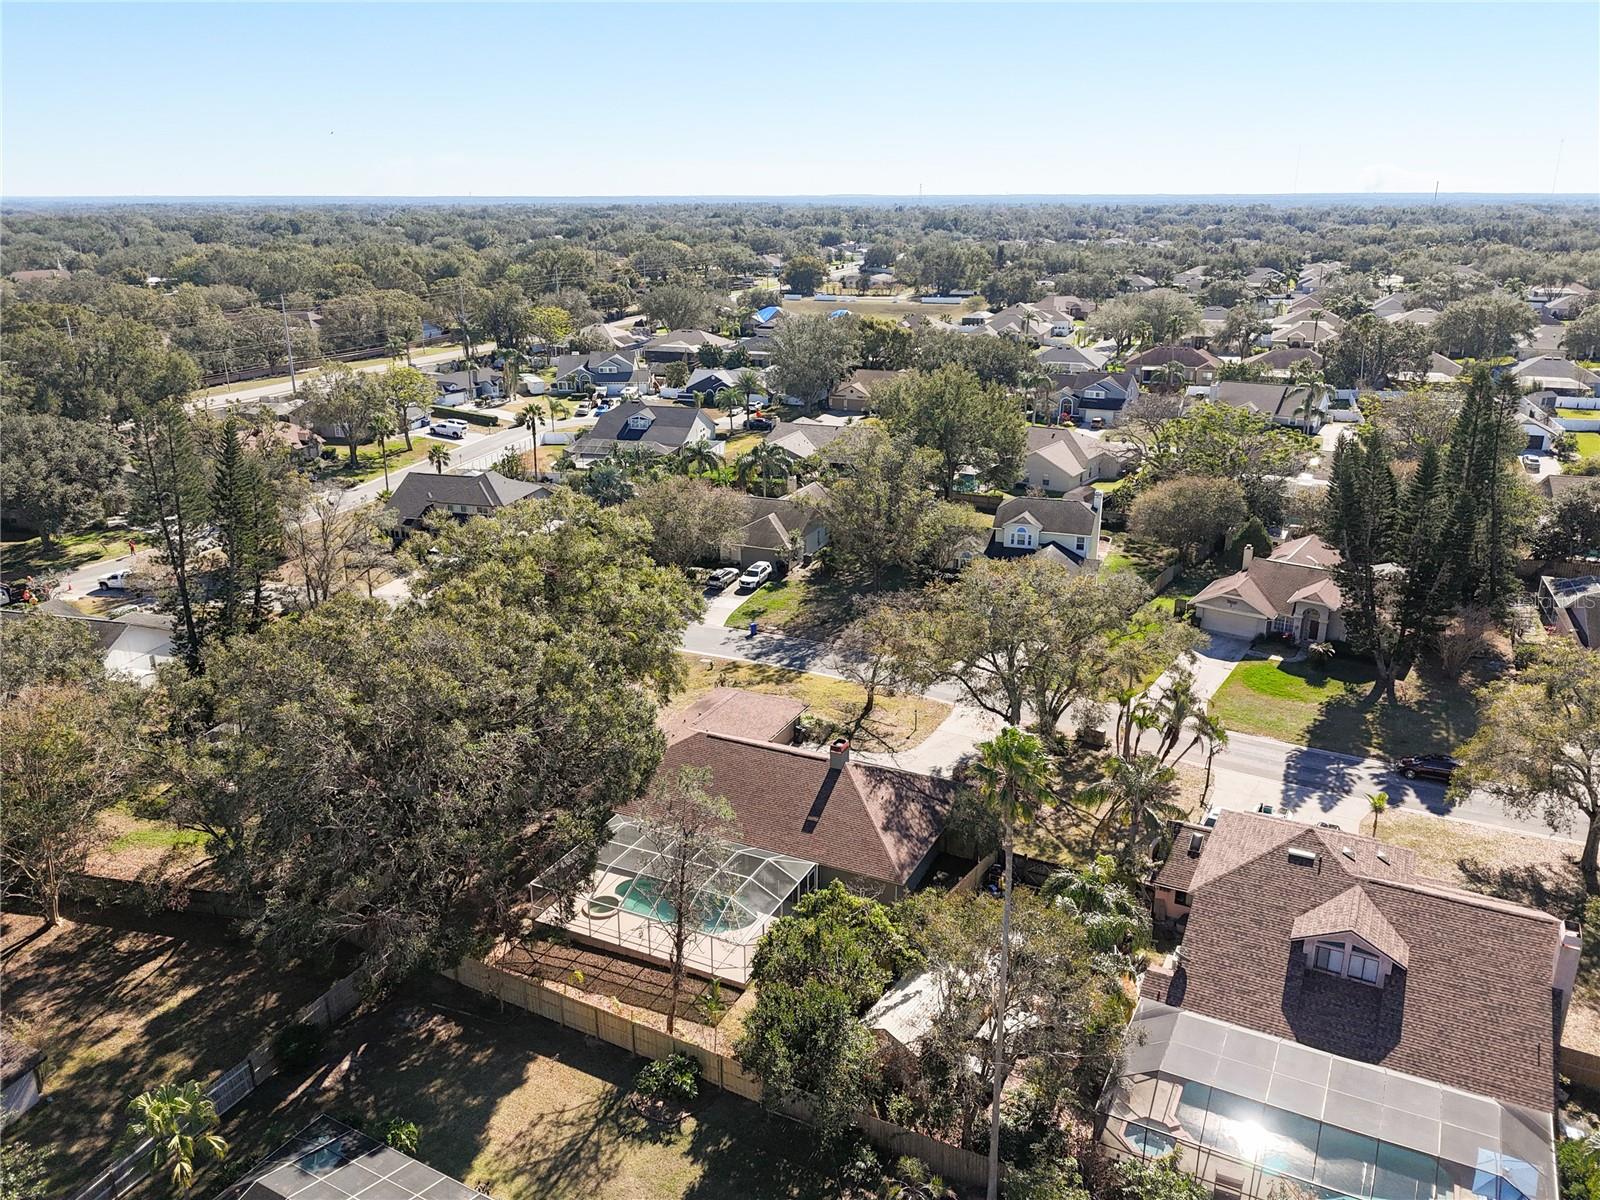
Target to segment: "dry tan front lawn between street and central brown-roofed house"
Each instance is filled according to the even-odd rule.
[[[688,685],[662,709],[661,715],[666,720],[710,688],[744,688],[768,696],[789,696],[805,704],[813,715],[834,722],[853,718],[866,702],[866,693],[858,685],[832,675],[733,659],[706,659],[710,664],[706,667],[694,654],[685,658],[690,661]],[[882,746],[874,744],[866,749],[909,750],[933,733],[949,712],[949,704],[915,693],[878,694],[872,709],[870,731],[872,741]]]

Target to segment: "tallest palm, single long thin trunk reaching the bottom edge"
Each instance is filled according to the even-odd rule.
[[[1005,1088],[1006,986],[1011,974],[1011,883],[1016,874],[1016,830],[1034,819],[1056,786],[1056,771],[1043,742],[1008,725],[978,747],[973,768],[978,794],[1000,816],[1000,850],[1005,854],[1005,894],[1000,902],[1000,981],[994,1026],[994,1107],[989,1114],[989,1200],[1000,1192],[1000,1091]]]

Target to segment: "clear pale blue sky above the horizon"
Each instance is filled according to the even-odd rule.
[[[1600,190],[1589,2],[0,21],[11,197]]]

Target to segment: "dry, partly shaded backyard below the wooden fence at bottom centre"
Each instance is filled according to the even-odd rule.
[[[840,1194],[814,1138],[715,1088],[682,1128],[645,1120],[627,1104],[642,1066],[440,981],[357,1018],[310,1080],[262,1088],[224,1118],[222,1134],[248,1165],[323,1112],[373,1130],[403,1117],[421,1130],[418,1158],[498,1200]],[[208,1192],[205,1176],[198,1190]]]

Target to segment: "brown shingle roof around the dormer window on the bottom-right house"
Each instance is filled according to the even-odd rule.
[[[1414,866],[1373,838],[1222,813],[1189,886],[1194,910],[1166,1003],[1550,1112],[1562,923],[1418,877]],[[1352,906],[1352,888],[1371,909],[1357,933],[1386,936],[1381,917],[1406,944],[1382,987],[1306,970],[1294,941],[1296,928],[1330,923],[1330,901]]]

